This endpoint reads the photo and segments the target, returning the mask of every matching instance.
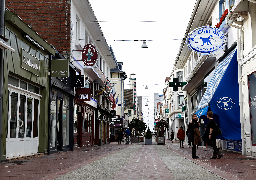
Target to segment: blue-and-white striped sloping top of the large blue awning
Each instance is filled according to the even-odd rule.
[[[202,111],[201,109],[203,109],[209,105],[209,103],[210,103],[218,85],[220,84],[221,79],[222,79],[223,75],[225,74],[225,72],[228,68],[228,65],[231,62],[235,52],[236,52],[236,49],[231,51],[231,53],[229,53],[229,55],[223,61],[221,61],[219,63],[219,65],[217,66],[217,68],[215,69],[214,75],[213,75],[210,83],[208,84],[207,90],[205,91],[205,93],[197,107],[196,114],[198,114],[198,116],[206,115],[205,111]],[[206,113],[207,113],[207,111],[206,111]]]

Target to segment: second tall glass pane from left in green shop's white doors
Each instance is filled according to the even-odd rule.
[[[26,106],[26,96],[20,95],[20,107],[19,107],[19,119],[18,119],[18,138],[24,138],[25,106]]]

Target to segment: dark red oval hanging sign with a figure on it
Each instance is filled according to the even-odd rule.
[[[97,60],[97,51],[92,44],[87,44],[84,46],[82,51],[82,60],[85,66],[93,66]]]

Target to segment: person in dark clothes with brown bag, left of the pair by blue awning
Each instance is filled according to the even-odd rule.
[[[188,138],[189,141],[192,143],[192,158],[197,159],[199,158],[196,155],[196,146],[199,145],[201,142],[201,137],[200,137],[200,131],[199,131],[199,122],[198,122],[198,117],[196,114],[192,115],[192,121],[190,121],[188,125]]]

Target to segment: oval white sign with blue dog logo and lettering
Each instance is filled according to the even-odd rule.
[[[188,34],[187,45],[196,52],[210,54],[222,48],[225,35],[218,28],[205,26],[200,27]]]

